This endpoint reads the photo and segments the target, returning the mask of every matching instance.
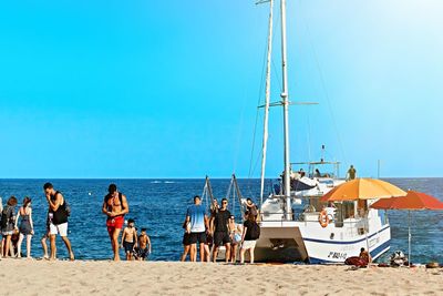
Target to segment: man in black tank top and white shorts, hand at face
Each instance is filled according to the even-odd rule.
[[[54,186],[51,183],[45,183],[43,185],[43,190],[49,205],[49,215],[51,217],[51,222],[49,225],[51,239],[51,259],[55,259],[55,238],[59,234],[62,237],[64,245],[66,246],[70,259],[74,261],[74,253],[72,252],[71,242],[68,238],[68,220],[70,213],[66,201],[64,200],[64,196],[60,191],[54,190]]]

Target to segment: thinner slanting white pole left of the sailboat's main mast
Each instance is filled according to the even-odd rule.
[[[264,139],[262,139],[262,153],[261,153],[261,187],[260,187],[260,204],[262,204],[265,191],[265,171],[266,171],[266,151],[268,147],[268,121],[269,121],[269,102],[270,102],[270,68],[272,55],[272,10],[274,0],[269,1],[269,34],[268,34],[268,60],[266,68],[266,102],[265,102],[265,121],[264,121]]]

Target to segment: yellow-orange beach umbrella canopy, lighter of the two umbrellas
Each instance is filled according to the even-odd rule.
[[[346,182],[327,194],[321,202],[340,202],[372,198],[389,198],[394,196],[405,196],[406,192],[385,181],[375,178],[356,178]]]

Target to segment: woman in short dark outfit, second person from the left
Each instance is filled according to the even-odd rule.
[[[20,224],[19,224],[20,218]],[[16,227],[20,231],[19,242],[17,243],[17,257],[21,257],[21,243],[27,238],[27,258],[31,258],[31,239],[34,234],[34,224],[32,222],[31,198],[28,196],[23,200],[16,218]]]

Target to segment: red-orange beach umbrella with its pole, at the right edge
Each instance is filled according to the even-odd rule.
[[[443,210],[443,203],[425,193],[408,191],[406,196],[380,200],[373,203],[371,207],[378,210],[408,210],[408,261],[411,264],[411,211]]]

